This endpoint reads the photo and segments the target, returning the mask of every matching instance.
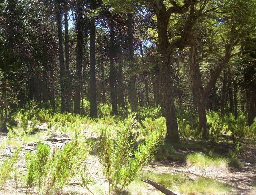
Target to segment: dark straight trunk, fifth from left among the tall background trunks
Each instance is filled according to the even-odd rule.
[[[109,81],[110,81],[110,98],[112,104],[112,113],[114,115],[118,114],[117,110],[117,89],[116,89],[116,72],[114,67],[114,41],[115,41],[115,34],[114,34],[114,21],[110,19],[110,51],[109,51]]]

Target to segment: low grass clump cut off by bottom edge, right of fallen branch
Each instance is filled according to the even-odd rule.
[[[187,180],[178,186],[181,194],[186,195],[229,195],[230,187],[217,182],[211,178],[199,178],[197,180]]]

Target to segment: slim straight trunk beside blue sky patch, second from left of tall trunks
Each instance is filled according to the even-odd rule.
[[[65,70],[66,70],[66,77],[65,78],[65,88],[66,88],[66,106],[67,112],[72,112],[71,107],[71,93],[70,93],[70,83],[68,78],[70,77],[69,71],[69,37],[68,37],[68,7],[67,1],[64,1],[64,24],[65,24]]]

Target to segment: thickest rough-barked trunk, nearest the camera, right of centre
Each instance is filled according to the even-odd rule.
[[[162,99],[162,108],[167,126],[169,141],[178,141],[178,122],[173,97],[173,70],[171,69],[170,55],[168,53],[169,40],[167,36],[168,20],[166,19],[166,7],[162,1],[155,2],[157,16],[157,31],[161,65],[159,67],[159,83]]]

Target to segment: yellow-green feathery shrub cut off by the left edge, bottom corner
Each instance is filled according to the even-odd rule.
[[[0,190],[3,188],[5,182],[11,178],[10,175],[16,170],[14,164],[18,160],[19,152],[20,149],[17,149],[11,157],[6,158],[0,164]]]

